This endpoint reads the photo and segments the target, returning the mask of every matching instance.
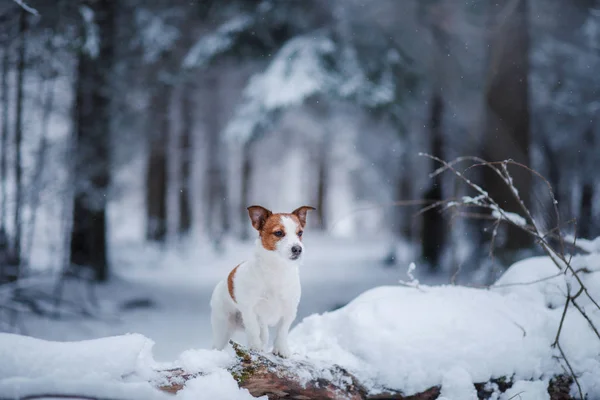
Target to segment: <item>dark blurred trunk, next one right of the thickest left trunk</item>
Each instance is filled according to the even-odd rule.
[[[163,242],[167,235],[167,142],[171,129],[171,85],[160,83],[151,99],[150,154],[146,169],[146,239]]]

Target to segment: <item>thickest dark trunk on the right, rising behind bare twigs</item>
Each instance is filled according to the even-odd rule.
[[[527,0],[501,0],[488,5],[492,17],[488,65],[486,124],[482,156],[488,161],[512,159],[530,165],[529,114],[529,34]],[[514,185],[529,207],[532,177],[527,171],[509,168]],[[482,170],[483,186],[500,207],[522,214],[512,192],[489,168]],[[497,243],[498,253],[527,248],[531,237],[506,225],[504,240]]]

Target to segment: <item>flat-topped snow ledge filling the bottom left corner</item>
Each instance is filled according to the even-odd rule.
[[[147,382],[152,345],[138,334],[60,343],[2,333],[0,393],[163,399]]]

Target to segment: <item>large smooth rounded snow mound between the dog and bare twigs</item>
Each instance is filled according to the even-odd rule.
[[[375,392],[420,392],[457,366],[473,382],[513,372],[530,378],[548,367],[552,335],[537,308],[479,289],[420,288],[376,288],[343,309],[308,317],[290,335],[292,351],[334,360]]]

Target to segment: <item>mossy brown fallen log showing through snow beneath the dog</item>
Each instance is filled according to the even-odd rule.
[[[270,400],[435,400],[441,393],[441,388],[434,386],[412,395],[394,390],[370,394],[354,375],[340,366],[317,367],[309,362],[282,359],[249,351],[237,343],[231,344],[237,361],[229,372],[239,386],[254,397],[266,395]],[[186,381],[200,375],[179,368],[158,373],[163,382],[158,388],[168,393],[177,393]],[[505,377],[492,379],[489,383],[500,392],[512,387],[512,380]],[[551,379],[548,385],[550,400],[574,400],[569,394],[572,383],[572,378],[567,375]],[[493,394],[488,389],[488,382],[476,383],[475,388],[480,400],[489,399]]]

